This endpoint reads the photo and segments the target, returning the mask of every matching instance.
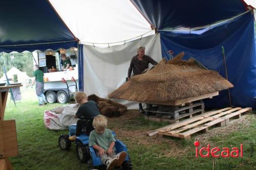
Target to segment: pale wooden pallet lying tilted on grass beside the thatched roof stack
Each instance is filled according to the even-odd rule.
[[[252,108],[224,108],[216,111],[209,111],[202,115],[198,115],[182,122],[168,125],[160,128],[157,131],[160,135],[173,136],[178,138],[190,139],[196,132],[207,132],[209,127],[214,125],[226,126],[230,122],[230,118],[240,118],[241,114],[251,112]],[[155,133],[154,133],[155,134]],[[152,135],[149,135],[152,136]]]

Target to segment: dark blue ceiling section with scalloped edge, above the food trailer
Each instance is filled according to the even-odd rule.
[[[3,1],[0,52],[77,47],[77,40],[48,1]]]

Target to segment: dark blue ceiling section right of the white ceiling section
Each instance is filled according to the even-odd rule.
[[[246,11],[241,0],[131,0],[158,30],[200,27]]]

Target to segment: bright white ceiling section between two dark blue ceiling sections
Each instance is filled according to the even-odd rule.
[[[50,3],[82,43],[123,43],[147,32],[155,33],[129,0],[50,0]]]

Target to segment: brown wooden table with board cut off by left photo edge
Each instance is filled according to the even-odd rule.
[[[4,116],[9,89],[20,86],[0,86],[0,170],[13,170],[8,157],[18,155],[15,120],[4,120]]]

